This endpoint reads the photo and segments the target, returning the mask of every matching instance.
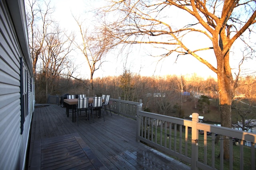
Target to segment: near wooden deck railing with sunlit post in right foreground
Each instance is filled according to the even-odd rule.
[[[172,126],[174,125],[174,127]],[[182,125],[178,126],[177,125]],[[185,127],[185,137],[182,137],[182,133]],[[174,129],[173,129],[174,128]],[[188,133],[191,128],[191,139],[188,139]],[[204,161],[198,160],[198,131],[202,130],[204,132],[204,141],[201,141],[200,145],[201,149],[204,149]],[[181,132],[181,133],[180,133]],[[211,140],[208,142],[212,145],[212,164],[207,164],[207,150],[205,150],[207,147],[207,132],[211,132],[212,135]],[[172,136],[172,134],[179,134],[177,136]],[[214,158],[214,141],[219,140],[215,138],[215,135],[220,135],[220,139],[223,139],[223,136],[227,136],[230,143],[230,152],[232,153],[232,144],[233,144],[233,138],[240,139],[240,155],[243,155],[244,151],[241,150],[241,147],[243,147],[243,141],[249,142],[248,144],[251,144],[251,159],[255,160],[255,143],[256,143],[256,134],[246,132],[246,131],[240,131],[237,129],[230,129],[227,127],[220,127],[216,125],[210,125],[206,123],[200,123],[198,119],[198,113],[192,114],[192,120],[187,119],[180,119],[176,117],[170,117],[166,115],[160,115],[156,113],[149,113],[146,111],[141,111],[140,105],[137,106],[137,141],[143,141],[144,143],[147,143],[153,147],[158,148],[159,150],[162,150],[163,152],[169,153],[172,156],[176,156],[180,158],[181,160],[188,162],[191,164],[191,169],[215,169],[215,158]],[[169,135],[170,138],[169,139]],[[160,137],[160,139],[157,138]],[[167,137],[168,136],[168,139]],[[182,139],[183,138],[183,139]],[[174,140],[174,141],[171,141]],[[191,140],[191,141],[189,141]],[[178,143],[179,141],[179,143]],[[173,142],[173,144],[171,144]],[[185,147],[182,147],[182,143],[185,143]],[[202,144],[203,143],[203,144]],[[189,144],[189,145],[188,145]],[[191,156],[188,156],[188,146],[191,144]],[[172,145],[172,146],[171,146]],[[174,145],[174,146],[173,146]],[[176,146],[177,145],[177,146]],[[249,145],[248,145],[249,146]],[[177,147],[177,148],[176,148]],[[223,147],[223,141],[220,141],[220,147]],[[185,149],[185,153],[184,153]],[[182,152],[183,150],[183,152]],[[209,152],[210,153],[210,152]],[[224,168],[224,161],[223,161],[223,149],[220,149],[220,169]],[[222,156],[221,156],[222,155]],[[232,157],[232,155],[230,155]],[[240,168],[244,165],[244,159],[240,158]],[[208,162],[210,163],[210,162]],[[233,160],[230,159],[230,168],[233,167]],[[251,169],[255,168],[255,162],[251,161]]]

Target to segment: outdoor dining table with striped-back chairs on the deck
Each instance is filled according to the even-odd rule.
[[[96,112],[96,115],[98,118],[101,117],[101,110],[102,106],[104,106],[104,109],[106,110],[106,113],[108,114],[108,109],[106,106],[109,107],[109,99],[110,95],[102,95],[98,97],[86,97],[85,94],[80,95],[67,95],[67,98],[63,100],[63,102],[66,104],[66,115],[69,117],[69,112],[72,109],[72,122],[76,122],[78,124],[78,113],[80,111],[85,111],[86,120],[87,120],[87,111],[88,111],[88,119],[90,121],[90,116],[92,116],[92,120],[94,123],[94,112]],[[89,113],[91,111],[91,113]],[[111,115],[112,112],[110,111]],[[102,114],[103,119],[104,114]],[[77,119],[77,120],[76,120]]]

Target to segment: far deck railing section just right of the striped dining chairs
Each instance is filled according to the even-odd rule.
[[[137,105],[142,108],[142,100],[140,102],[130,102],[126,100],[121,100],[121,97],[118,99],[109,100],[110,110],[118,115],[124,115],[126,117],[130,117],[132,119],[136,119],[137,115]],[[107,107],[108,108],[108,107]]]

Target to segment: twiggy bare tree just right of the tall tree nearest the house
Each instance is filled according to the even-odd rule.
[[[66,35],[65,31],[61,30],[56,23],[48,31],[51,32],[47,33],[42,47],[42,55],[39,56],[42,61],[42,73],[46,79],[46,96],[51,94],[54,87],[58,87],[60,76],[70,73],[68,70],[72,69],[72,62],[68,57],[73,51],[72,43],[74,41],[74,36]],[[48,80],[52,81],[48,82]],[[48,87],[52,89],[48,91]]]

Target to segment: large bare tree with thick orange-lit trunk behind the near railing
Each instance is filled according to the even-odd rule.
[[[231,128],[234,80],[229,52],[242,34],[247,38],[250,36],[246,34],[254,34],[255,8],[254,0],[113,0],[104,13],[115,15],[116,21],[106,23],[116,41],[153,44],[162,49],[159,50],[162,52],[159,55],[161,57],[175,53],[178,56],[193,56],[215,72],[218,78],[221,125]],[[178,20],[177,23],[173,23],[172,16]],[[195,35],[205,41],[195,44]],[[202,55],[202,51],[212,50],[216,66]],[[224,159],[229,159],[228,146],[228,140],[224,140]]]

